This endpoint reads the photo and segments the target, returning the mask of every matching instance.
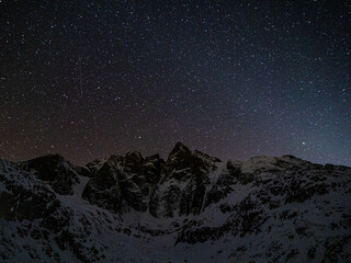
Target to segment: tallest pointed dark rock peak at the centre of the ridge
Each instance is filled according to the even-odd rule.
[[[200,214],[211,185],[210,172],[220,160],[191,151],[178,142],[161,171],[160,183],[150,201],[150,213],[157,218]]]

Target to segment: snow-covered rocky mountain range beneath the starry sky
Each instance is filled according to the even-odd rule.
[[[0,159],[1,262],[351,262],[351,168],[177,144],[76,167]]]

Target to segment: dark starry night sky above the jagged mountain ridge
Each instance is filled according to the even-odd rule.
[[[194,2],[0,0],[0,157],[351,165],[351,2]]]

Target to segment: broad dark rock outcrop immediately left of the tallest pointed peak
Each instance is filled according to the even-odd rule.
[[[94,172],[82,197],[114,211],[128,211],[129,207],[144,211],[163,164],[159,155],[144,159],[137,151],[88,163]]]

